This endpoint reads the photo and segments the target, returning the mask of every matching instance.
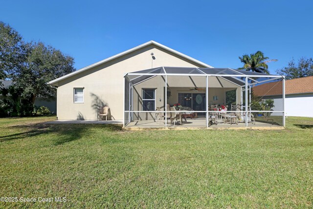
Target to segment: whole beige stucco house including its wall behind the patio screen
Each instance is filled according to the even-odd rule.
[[[59,120],[98,120],[99,109],[109,106],[112,116],[116,120],[123,120],[124,125],[131,121],[156,122],[157,113],[154,111],[161,111],[162,118],[166,118],[166,104],[173,106],[181,103],[196,116],[204,118],[201,124],[207,127],[210,106],[229,104],[227,92],[235,94],[231,103],[240,104],[239,114],[246,111],[248,115],[248,104],[244,108],[243,101],[251,100],[248,98],[251,87],[276,77],[213,68],[150,41],[48,84],[57,88]],[[246,90],[246,99],[243,99]],[[166,124],[165,121],[165,127]]]

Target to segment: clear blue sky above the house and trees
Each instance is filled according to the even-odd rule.
[[[242,67],[238,56],[261,50],[278,59],[274,73],[313,57],[312,11],[312,0],[3,0],[0,21],[73,56],[76,69],[155,40],[213,67]]]

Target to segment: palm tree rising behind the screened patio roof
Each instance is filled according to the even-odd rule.
[[[244,63],[243,68],[239,68],[239,70],[247,70],[253,72],[262,72],[269,74],[268,65],[269,62],[276,62],[277,60],[268,60],[268,57],[264,57],[264,53],[262,51],[257,51],[255,54],[247,55],[245,54],[242,57],[239,57],[240,61]]]

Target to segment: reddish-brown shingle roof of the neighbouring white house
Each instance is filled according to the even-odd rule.
[[[272,88],[274,86],[275,88]],[[283,92],[283,82],[280,81],[278,83],[271,82],[271,83],[262,84],[262,85],[253,87],[252,91],[257,96],[281,95]],[[286,80],[285,93],[286,94],[313,93],[313,76]]]

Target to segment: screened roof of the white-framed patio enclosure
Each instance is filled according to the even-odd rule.
[[[271,75],[246,70],[233,70],[230,68],[188,68],[188,67],[158,67],[148,70],[130,72],[125,75],[132,85],[136,85],[155,76],[214,76],[218,80],[229,81],[237,86],[244,87],[246,78],[248,86],[264,83],[272,79],[283,78],[281,75]],[[219,81],[220,82],[220,81]],[[221,82],[220,82],[221,83]]]

